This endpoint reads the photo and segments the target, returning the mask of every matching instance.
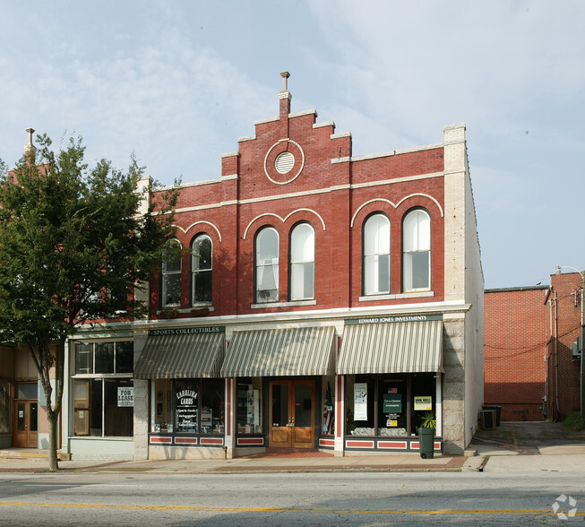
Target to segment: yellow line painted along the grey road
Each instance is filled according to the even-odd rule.
[[[307,514],[510,514],[510,515],[555,515],[552,510],[537,509],[330,509],[330,508],[290,508],[290,507],[228,507],[228,506],[193,506],[193,505],[108,505],[108,504],[73,504],[73,503],[32,503],[32,502],[0,502],[4,506],[27,507],[65,507],[85,509],[133,509],[157,511],[191,511],[191,512],[224,512],[224,513],[307,513]],[[585,516],[585,511],[577,511],[575,516]]]

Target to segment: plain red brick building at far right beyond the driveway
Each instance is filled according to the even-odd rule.
[[[581,410],[581,275],[550,286],[486,289],[485,402],[503,420],[564,419]]]

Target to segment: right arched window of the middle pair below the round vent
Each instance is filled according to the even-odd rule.
[[[314,298],[314,229],[299,223],[290,234],[290,299]]]

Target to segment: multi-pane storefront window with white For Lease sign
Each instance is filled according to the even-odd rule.
[[[133,342],[76,343],[73,435],[133,436]]]

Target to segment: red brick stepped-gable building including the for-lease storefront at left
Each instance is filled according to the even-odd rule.
[[[354,157],[351,134],[290,113],[287,78],[221,177],[180,186],[170,243],[191,253],[162,263],[149,320],[70,341],[73,458],[417,452],[428,410],[436,449],[469,444],[484,294],[465,125]]]

